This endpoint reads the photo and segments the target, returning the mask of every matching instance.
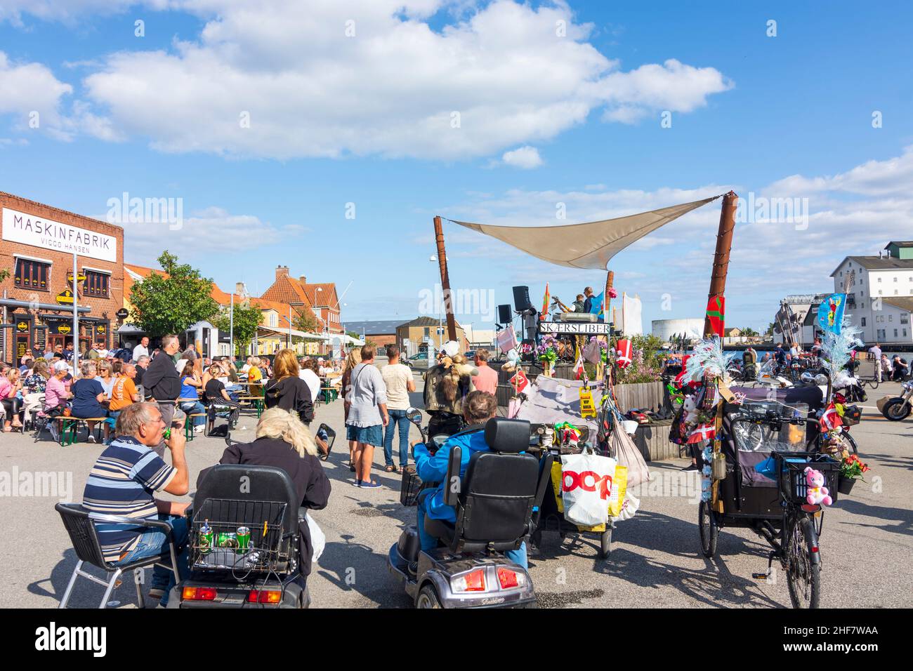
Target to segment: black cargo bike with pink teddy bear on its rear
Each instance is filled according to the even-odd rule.
[[[719,529],[751,529],[771,545],[767,571],[752,577],[770,578],[773,561],[779,561],[792,606],[817,608],[824,508],[806,500],[805,469],[822,473],[835,502],[840,462],[827,454],[819,425],[830,390],[806,386],[731,391],[740,403],[719,405],[722,431],[710,464],[711,495],[698,506],[701,550],[708,558],[716,556]],[[764,470],[768,459],[772,479],[756,468]]]

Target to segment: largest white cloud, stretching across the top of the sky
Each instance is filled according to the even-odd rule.
[[[305,11],[299,0],[11,0],[0,18],[68,20],[133,4],[192,13],[205,26],[168,50],[81,64],[93,107],[74,121],[96,137],[148,138],[163,152],[490,156],[549,140],[593,110],[621,121],[686,112],[730,86],[714,68],[676,60],[623,71],[563,2],[320,0]],[[433,29],[427,21],[442,9],[450,23]]]

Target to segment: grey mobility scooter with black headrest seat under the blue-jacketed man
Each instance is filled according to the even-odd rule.
[[[406,416],[418,426],[429,451],[444,445],[448,436],[430,441],[422,429],[422,414],[415,408]],[[531,608],[536,594],[529,572],[503,552],[519,550],[534,529],[533,510],[539,508],[551,465],[540,471],[539,460],[530,455],[530,423],[495,417],[485,425],[489,452],[477,452],[460,477],[462,451],[450,450],[444,502],[456,508],[456,522],[425,516],[425,530],[438,539],[435,550],[422,550],[418,529],[404,529],[387,556],[389,571],[404,583],[416,608]],[[432,483],[410,484],[415,473],[403,474],[401,502],[416,505],[412,490],[428,489]],[[409,478],[409,480],[406,480]]]

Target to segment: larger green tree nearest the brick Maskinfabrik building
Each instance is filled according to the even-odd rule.
[[[213,280],[168,250],[158,257],[163,273],[150,273],[131,289],[133,321],[153,337],[179,334],[201,320],[210,320],[219,311],[212,297]]]

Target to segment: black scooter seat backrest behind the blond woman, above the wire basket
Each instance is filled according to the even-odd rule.
[[[260,502],[285,503],[282,527],[289,533],[298,529],[299,500],[295,484],[279,467],[216,464],[200,481],[194,496],[194,510],[204,510],[207,499],[230,501],[231,505],[220,505],[219,509],[227,510],[231,519],[214,521],[238,525],[269,521],[251,519],[257,517],[258,510],[266,509],[257,505]]]

